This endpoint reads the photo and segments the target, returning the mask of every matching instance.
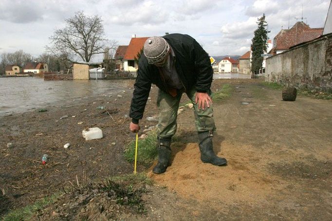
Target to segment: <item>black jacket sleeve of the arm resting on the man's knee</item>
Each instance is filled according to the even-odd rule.
[[[211,87],[213,69],[209,55],[196,40],[194,40],[194,59],[197,74],[196,91],[207,92]]]

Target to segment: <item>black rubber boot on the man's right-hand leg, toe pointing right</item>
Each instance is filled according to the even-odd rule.
[[[200,141],[199,147],[201,151],[201,160],[203,163],[210,163],[216,166],[227,165],[227,160],[217,156],[213,152],[212,145],[213,131],[205,131],[198,133],[198,139]]]

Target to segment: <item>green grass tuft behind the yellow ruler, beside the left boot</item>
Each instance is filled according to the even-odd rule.
[[[148,166],[153,162],[153,160],[157,156],[156,142],[157,142],[157,132],[155,130],[150,131],[145,139],[138,140],[138,148],[137,148],[138,163]],[[129,161],[129,163],[132,163],[135,160],[135,147],[136,147],[136,140],[132,140],[124,152],[124,156]]]

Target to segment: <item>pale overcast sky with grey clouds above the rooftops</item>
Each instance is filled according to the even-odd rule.
[[[0,0],[0,53],[21,49],[37,57],[64,19],[84,11],[100,15],[107,37],[119,45],[128,45],[132,34],[182,33],[210,55],[242,55],[258,17],[265,13],[273,40],[301,17],[302,4],[304,22],[324,27],[330,0]]]

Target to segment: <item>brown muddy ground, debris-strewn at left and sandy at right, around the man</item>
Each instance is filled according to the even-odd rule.
[[[154,186],[143,185],[143,214],[110,203],[114,200],[109,195],[86,186],[133,170],[123,158],[126,145],[134,139],[125,117],[132,81],[126,82],[122,97],[101,95],[71,106],[50,106],[47,112],[1,118],[0,188],[5,194],[0,214],[74,187],[78,181],[86,186],[75,192],[84,203],[77,205],[75,195],[65,194],[34,219],[331,220],[332,102],[301,96],[283,102],[281,90],[260,83],[219,79],[212,84],[213,90],[223,84],[234,87],[230,99],[214,103],[214,149],[227,158],[226,167],[200,161],[192,110],[179,115],[181,139],[172,145],[172,165],[166,173],[155,175],[139,167],[155,181]],[[144,118],[158,112],[156,92],[152,88]],[[187,101],[184,96],[182,103]],[[97,106],[107,106],[111,116]],[[60,119],[64,115],[69,118]],[[140,124],[149,127],[155,122],[144,119]],[[103,130],[104,138],[85,141],[82,130],[95,126]],[[8,142],[14,147],[7,148]],[[63,148],[66,143],[71,143],[68,149]],[[44,153],[50,161],[41,165]],[[93,191],[91,201],[88,193]]]

